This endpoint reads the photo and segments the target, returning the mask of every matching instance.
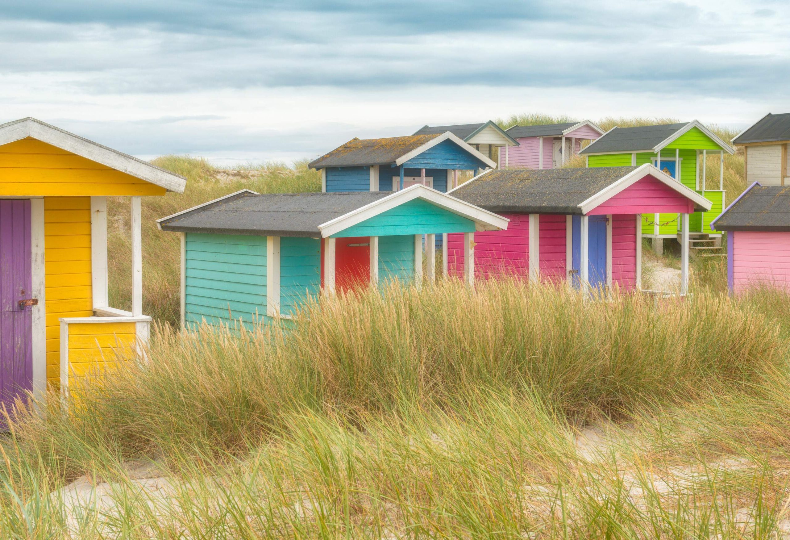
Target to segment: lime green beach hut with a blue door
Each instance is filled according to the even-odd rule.
[[[694,120],[656,126],[613,127],[580,154],[588,167],[624,165],[656,165],[686,187],[698,191],[711,203],[709,210],[695,212],[689,217],[689,238],[694,243],[705,243],[720,238],[719,231],[710,230],[710,222],[724,210],[724,153],[735,150]],[[707,178],[709,154],[719,157],[717,179]],[[642,216],[642,236],[653,239],[653,249],[661,253],[664,239],[677,238],[680,230],[678,213],[645,213]],[[717,240],[718,241],[718,240]]]

